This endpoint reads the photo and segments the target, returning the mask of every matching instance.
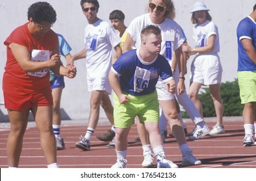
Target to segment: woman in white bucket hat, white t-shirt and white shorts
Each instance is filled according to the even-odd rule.
[[[220,43],[218,27],[211,21],[209,8],[204,3],[196,2],[191,11],[191,21],[196,24],[193,28],[195,47],[183,45],[183,50],[189,54],[196,54],[191,64],[189,95],[198,111],[203,116],[203,107],[198,97],[202,85],[209,85],[212,101],[216,112],[217,122],[209,134],[225,133],[222,124],[224,106],[220,96],[222,80],[222,65],[218,52]]]

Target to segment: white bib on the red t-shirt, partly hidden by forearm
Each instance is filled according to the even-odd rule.
[[[47,61],[50,59],[49,50],[32,50],[31,60],[32,61]],[[49,68],[41,70],[40,72],[27,72],[29,76],[44,77]]]

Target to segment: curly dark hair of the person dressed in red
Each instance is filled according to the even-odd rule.
[[[27,11],[27,19],[32,17],[34,23],[42,23],[46,21],[47,23],[55,23],[57,20],[57,14],[47,2],[37,2],[32,4]]]

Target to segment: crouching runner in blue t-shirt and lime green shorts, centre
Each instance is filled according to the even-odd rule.
[[[141,32],[141,47],[125,52],[112,65],[109,73],[114,91],[114,123],[116,127],[117,162],[112,168],[126,167],[127,136],[138,116],[148,133],[157,167],[177,167],[167,160],[159,131],[159,103],[155,85],[160,78],[170,93],[175,92],[175,81],[168,61],[159,54],[160,28],[149,25]]]

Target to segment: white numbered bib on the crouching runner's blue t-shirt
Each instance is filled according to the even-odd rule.
[[[136,67],[134,74],[134,92],[141,92],[148,87],[151,72],[140,67]]]

